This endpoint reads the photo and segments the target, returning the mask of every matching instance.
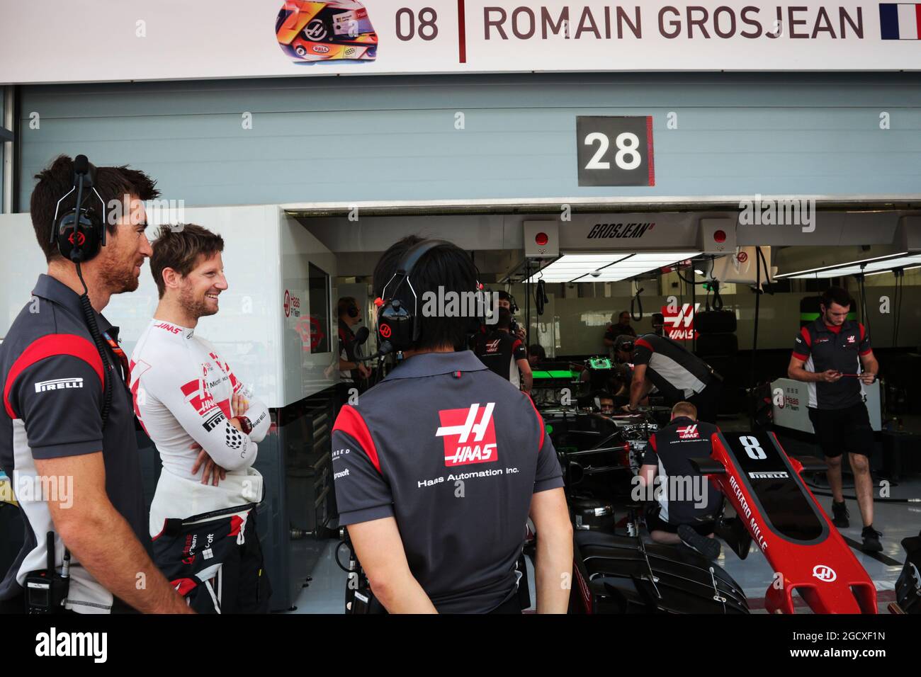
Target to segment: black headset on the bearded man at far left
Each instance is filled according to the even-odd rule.
[[[74,191],[74,208],[64,212],[59,219],[61,203]],[[87,198],[90,199],[90,204],[95,202],[89,191],[99,200],[99,212],[93,206],[84,206]],[[54,206],[50,243],[53,244],[57,239],[58,251],[65,259],[74,263],[87,263],[99,254],[99,249],[106,244],[105,225],[106,204],[96,190],[96,167],[90,164],[87,156],[78,155],[74,158],[74,185]]]

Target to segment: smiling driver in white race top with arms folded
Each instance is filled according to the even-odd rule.
[[[255,523],[262,475],[252,464],[269,411],[194,333],[227,289],[223,250],[200,226],[160,228],[150,259],[160,301],[134,348],[131,390],[163,461],[150,507],[157,566],[199,613],[265,613],[271,589]]]

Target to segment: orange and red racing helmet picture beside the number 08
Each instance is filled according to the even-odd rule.
[[[275,19],[275,36],[296,62],[374,61],[378,55],[378,34],[357,0],[286,0]]]

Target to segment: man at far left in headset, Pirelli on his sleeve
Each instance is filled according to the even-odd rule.
[[[71,192],[78,176],[84,186]],[[143,201],[159,193],[141,171],[87,163],[77,174],[64,156],[35,178],[30,212],[48,273],[0,345],[0,467],[15,487],[41,484],[42,490],[17,496],[27,538],[0,582],[0,612],[25,611],[27,578],[47,569],[51,532],[53,567],[69,569],[69,587],[52,594],[48,611],[188,613],[148,554],[134,414],[123,380],[128,365],[118,327],[100,314],[113,294],[137,288],[151,253]],[[68,224],[77,194],[83,199],[75,232]],[[107,212],[112,203],[130,210]],[[38,603],[33,599],[31,608]]]

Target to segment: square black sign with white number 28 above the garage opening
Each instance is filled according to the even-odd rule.
[[[578,115],[580,186],[654,186],[652,116]]]

